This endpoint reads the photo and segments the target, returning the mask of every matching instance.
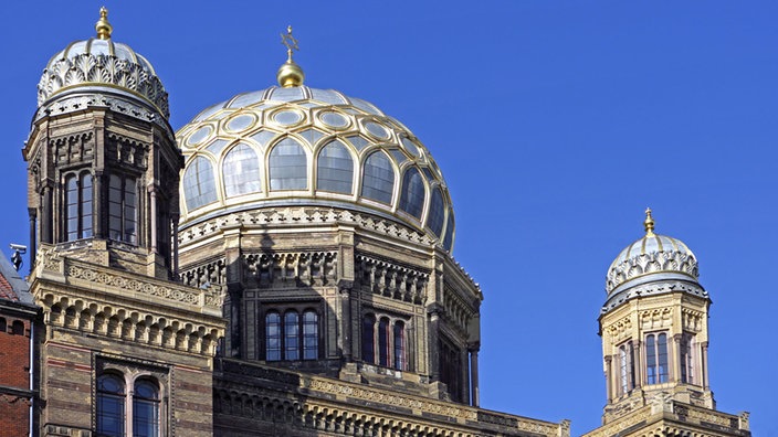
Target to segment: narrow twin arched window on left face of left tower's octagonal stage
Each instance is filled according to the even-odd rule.
[[[65,234],[69,242],[92,236],[92,174],[65,179]]]

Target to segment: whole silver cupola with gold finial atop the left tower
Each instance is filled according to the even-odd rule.
[[[112,39],[101,8],[96,36],[75,41],[51,57],[38,84],[35,119],[86,106],[109,106],[139,118],[170,116],[168,94],[151,64]],[[155,114],[156,113],[156,114]]]

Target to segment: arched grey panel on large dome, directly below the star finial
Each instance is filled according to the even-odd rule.
[[[292,138],[284,138],[270,152],[270,189],[305,190],[308,186],[307,156]]]

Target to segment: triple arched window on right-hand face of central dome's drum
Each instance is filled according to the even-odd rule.
[[[362,360],[366,363],[404,371],[407,366],[406,323],[388,317],[366,315],[362,319]]]

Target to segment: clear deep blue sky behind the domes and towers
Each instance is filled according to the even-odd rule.
[[[101,2],[6,2],[6,213],[27,243],[20,149],[51,55],[93,35]],[[778,436],[778,2],[106,1],[115,41],[170,93],[171,125],[274,85],[295,28],[306,84],[367,99],[435,157],[454,256],[479,281],[482,406],[574,435],[604,405],[598,310],[613,257],[656,231],[709,291],[718,408]],[[3,249],[10,256],[9,249]]]

